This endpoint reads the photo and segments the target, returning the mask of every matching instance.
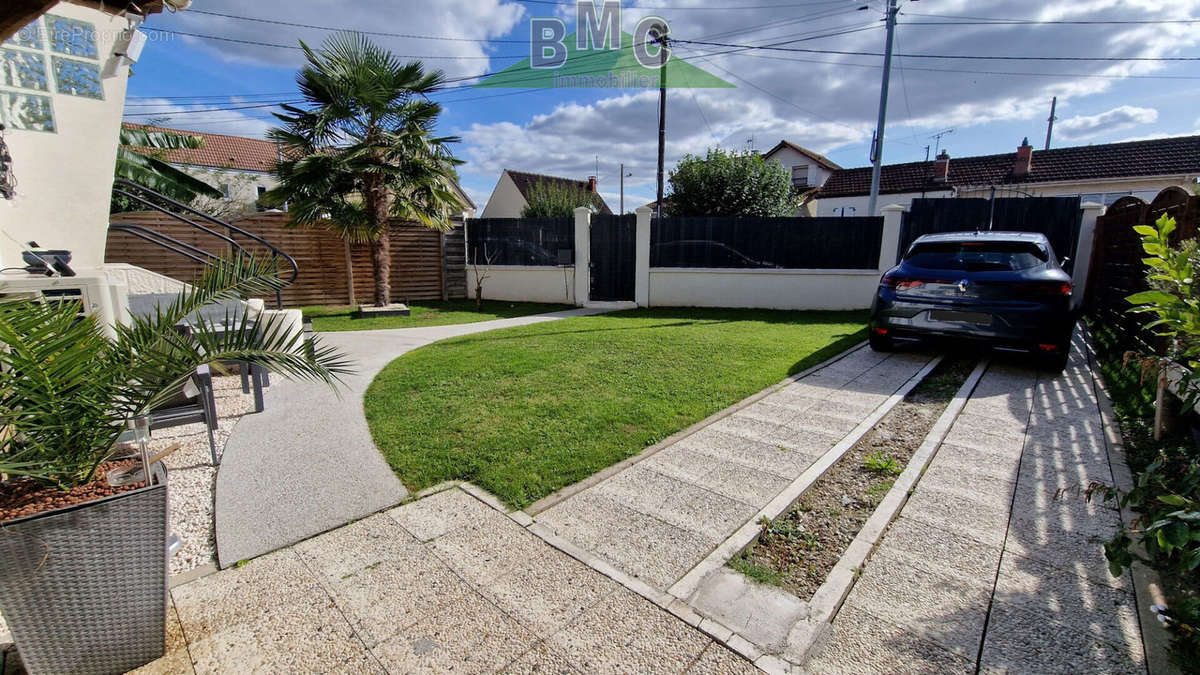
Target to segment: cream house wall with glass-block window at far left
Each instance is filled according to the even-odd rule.
[[[70,249],[73,265],[104,262],[116,143],[130,72],[130,38],[146,2],[0,4],[0,142],[11,198],[0,198],[0,267],[19,265],[20,243]],[[46,16],[41,16],[43,12]],[[5,174],[5,172],[0,172]],[[0,195],[7,190],[0,189]]]

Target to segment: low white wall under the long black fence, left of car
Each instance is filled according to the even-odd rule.
[[[650,269],[652,307],[862,310],[871,306],[877,270]]]

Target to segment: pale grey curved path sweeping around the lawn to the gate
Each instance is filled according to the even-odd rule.
[[[396,357],[446,338],[604,311],[322,334],[356,362],[358,372],[336,393],[277,378],[266,390],[266,410],[234,428],[217,472],[217,563],[274,551],[404,498],[408,492],[372,442],[362,413],[362,394]]]

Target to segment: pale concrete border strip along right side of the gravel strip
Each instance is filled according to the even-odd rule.
[[[974,393],[979,381],[983,380],[989,365],[990,359],[980,360],[971,371],[971,375],[967,376],[966,381],[962,382],[962,386],[955,392],[954,398],[950,399],[949,405],[946,406],[946,410],[938,416],[934,426],[930,428],[929,434],[925,435],[925,440],[922,441],[920,447],[917,448],[912,459],[908,460],[908,466],[896,478],[892,489],[888,490],[888,494],[880,502],[880,506],[875,508],[875,513],[863,524],[854,540],[846,546],[846,551],[826,577],[824,583],[812,593],[812,598],[809,601],[809,617],[797,622],[788,635],[786,653],[793,663],[803,665],[808,661],[812,647],[822,639],[828,625],[836,616],[838,610],[841,609],[846,596],[854,587],[863,566],[866,565],[868,558],[875,552],[875,546],[883,538],[883,533],[892,521],[899,515],[900,509],[908,502],[908,492],[916,488],[917,482],[920,480],[929,464],[937,455],[937,450],[942,447],[942,441],[950,432],[950,429],[959,418],[959,413],[962,412],[971,394]]]

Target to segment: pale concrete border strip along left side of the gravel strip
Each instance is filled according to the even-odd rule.
[[[871,429],[886,414],[892,412],[900,401],[912,392],[917,384],[919,384],[935,368],[937,364],[942,363],[943,356],[937,356],[931,359],[924,368],[922,368],[917,375],[913,375],[905,382],[887,401],[881,404],[875,412],[866,417],[863,422],[858,424],[850,434],[842,437],[836,446],[830,448],[826,454],[821,455],[816,462],[809,466],[796,480],[793,480],[787,488],[784,488],[779,495],[775,496],[770,502],[767,503],[758,513],[756,513],[750,520],[748,520],[742,527],[733,532],[725,542],[716,546],[710,554],[708,554],[704,560],[700,561],[696,567],[691,568],[690,572],[683,575],[682,579],[674,583],[667,592],[672,596],[688,601],[695,595],[696,590],[703,583],[704,578],[709,574],[720,569],[728,562],[733,556],[739,554],[743,549],[749,546],[755,539],[758,538],[758,533],[762,531],[760,522],[763,519],[772,520],[778,518],[781,513],[787,510],[796,500],[800,498],[814,483],[816,483],[838,460],[842,458],[854,443],[858,443]]]

